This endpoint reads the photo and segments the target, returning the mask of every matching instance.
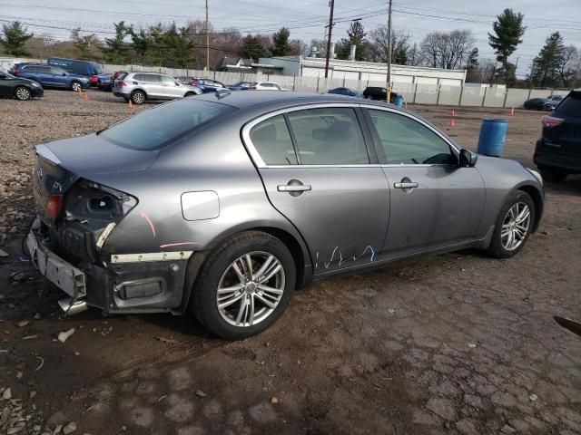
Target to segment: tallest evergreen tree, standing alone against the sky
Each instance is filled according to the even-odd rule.
[[[525,34],[527,27],[523,26],[525,15],[516,13],[512,9],[505,9],[497,15],[497,21],[492,24],[494,34],[488,34],[488,43],[497,54],[497,61],[502,63],[499,73],[507,82],[508,57],[517,50],[517,45],[522,43],[520,37]]]

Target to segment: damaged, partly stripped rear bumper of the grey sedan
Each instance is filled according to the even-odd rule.
[[[110,314],[185,310],[189,290],[184,292],[184,282],[192,251],[116,254],[102,262],[74,262],[49,249],[40,233],[33,226],[26,238],[31,263],[69,296],[59,303],[69,314],[84,311],[87,305]]]

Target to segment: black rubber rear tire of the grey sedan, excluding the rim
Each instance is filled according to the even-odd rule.
[[[228,273],[232,263],[241,258],[241,256],[258,251],[275,256],[282,266],[284,287],[281,299],[271,313],[257,324],[247,326],[230,324],[222,317],[217,303],[218,288],[221,284],[222,276]],[[192,313],[210,333],[226,340],[241,340],[261,333],[281,317],[281,314],[291,301],[295,280],[296,268],[294,260],[289,248],[281,240],[260,231],[240,233],[223,242],[221,246],[216,247],[204,266],[202,266],[200,275],[198,275],[192,289]],[[269,282],[266,281],[266,283],[268,284]],[[240,290],[241,297],[250,297],[246,296],[245,292],[246,289]],[[236,311],[236,306],[240,307],[240,305],[241,303],[234,303],[229,309]],[[266,307],[266,305],[264,306]]]

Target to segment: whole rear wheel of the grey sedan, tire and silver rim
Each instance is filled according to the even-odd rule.
[[[227,340],[261,333],[291,301],[295,265],[276,237],[249,231],[209,256],[193,288],[192,311],[211,333]]]

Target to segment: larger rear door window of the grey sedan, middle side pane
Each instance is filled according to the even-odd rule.
[[[355,111],[346,107],[291,111],[291,129],[303,165],[369,163]]]

